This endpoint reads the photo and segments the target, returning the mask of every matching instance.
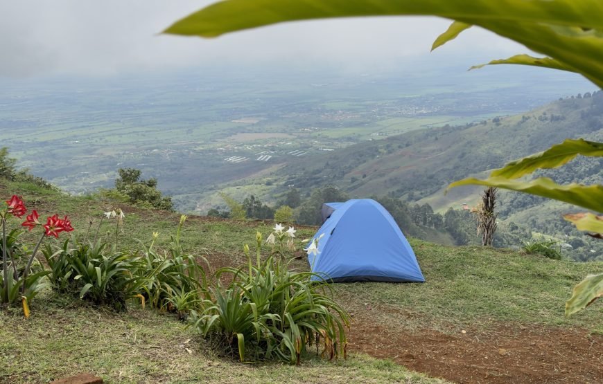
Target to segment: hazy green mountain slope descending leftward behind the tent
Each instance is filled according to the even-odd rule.
[[[297,188],[336,183],[354,196],[392,194],[417,201],[451,181],[501,167],[566,138],[602,136],[603,92],[598,92],[592,98],[558,100],[517,116],[359,143],[288,165],[281,174],[288,178],[286,184]],[[600,172],[593,172],[600,179]]]

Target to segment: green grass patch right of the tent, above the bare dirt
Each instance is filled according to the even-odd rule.
[[[385,309],[382,322],[417,328],[438,324],[439,331],[463,327],[487,329],[492,322],[582,327],[603,333],[603,306],[593,304],[566,318],[564,302],[588,273],[603,271],[603,263],[556,261],[512,250],[466,246],[448,247],[412,239],[426,282],[423,284],[346,284],[337,287],[350,311],[364,302]],[[352,300],[352,298],[357,298]]]

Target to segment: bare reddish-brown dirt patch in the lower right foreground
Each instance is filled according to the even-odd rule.
[[[456,383],[603,383],[603,336],[535,325],[465,331],[391,329],[356,313],[349,350]]]

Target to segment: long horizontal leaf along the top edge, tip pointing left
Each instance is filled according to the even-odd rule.
[[[176,21],[164,33],[216,37],[285,21],[403,15],[455,20],[496,17],[599,28],[603,26],[602,14],[603,2],[599,0],[227,0]]]

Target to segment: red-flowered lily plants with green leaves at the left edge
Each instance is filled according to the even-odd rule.
[[[0,221],[2,225],[2,264],[0,265],[0,303],[14,304],[21,301],[23,311],[26,317],[29,316],[28,302],[45,286],[44,277],[49,274],[44,268],[33,268],[33,261],[37,251],[42,245],[42,241],[48,236],[59,237],[60,232],[71,232],[73,227],[71,221],[64,217],[60,219],[55,214],[46,219],[46,224],[42,224],[36,210],[26,217],[26,221],[21,226],[33,230],[38,226],[43,228],[42,236],[37,241],[31,254],[28,254],[26,248],[19,241],[19,235],[24,230],[13,229],[6,234],[6,225],[12,217],[21,218],[27,213],[25,203],[21,197],[12,195],[6,201],[3,209],[0,211]]]

